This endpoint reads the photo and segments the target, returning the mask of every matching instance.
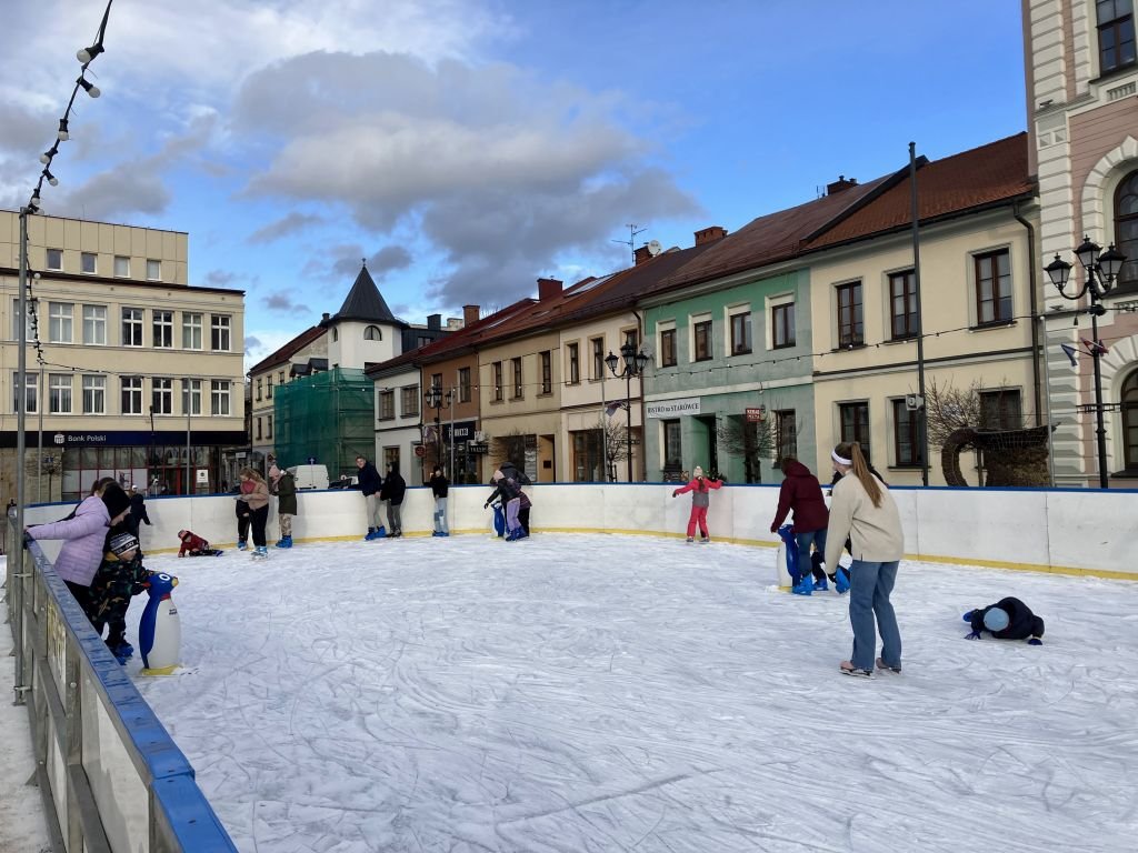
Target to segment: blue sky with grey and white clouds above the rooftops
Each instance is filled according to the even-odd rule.
[[[0,206],[26,202],[105,0],[3,0]],[[116,0],[47,210],[187,231],[255,361],[691,246],[1025,126],[1017,0]]]

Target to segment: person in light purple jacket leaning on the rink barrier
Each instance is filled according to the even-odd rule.
[[[101,495],[86,498],[72,517],[50,524],[34,524],[27,528],[36,541],[65,539],[56,572],[67,583],[67,588],[83,612],[91,616],[91,581],[102,562],[107,529],[125,519],[131,511],[131,499],[117,483],[108,485]]]

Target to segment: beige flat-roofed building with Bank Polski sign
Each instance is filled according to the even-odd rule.
[[[244,291],[189,287],[185,233],[51,216],[27,230],[39,278],[22,383],[19,216],[0,210],[2,494],[16,494],[20,396],[30,502],[72,500],[100,477],[218,490],[223,450],[245,444]]]

